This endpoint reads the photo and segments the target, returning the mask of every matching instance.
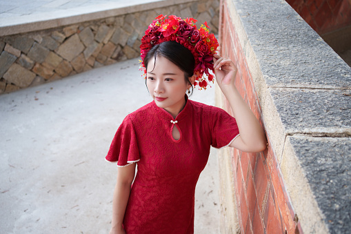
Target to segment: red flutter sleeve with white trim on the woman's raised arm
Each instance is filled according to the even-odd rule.
[[[211,137],[214,148],[229,146],[239,134],[237,121],[221,108],[213,107],[210,113]]]

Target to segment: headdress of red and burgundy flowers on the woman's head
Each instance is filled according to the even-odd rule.
[[[206,88],[208,82],[213,82],[213,75],[208,69],[213,69],[213,55],[216,53],[218,41],[213,34],[209,33],[208,25],[197,29],[196,19],[186,18],[181,19],[175,15],[167,16],[160,14],[150,24],[145,35],[141,39],[141,58],[144,60],[148,51],[155,45],[164,41],[177,41],[185,48],[188,48],[195,59],[194,75],[196,75],[194,86],[199,85],[199,88]],[[144,71],[146,76],[146,67],[144,61],[141,61],[140,70]],[[207,75],[208,80],[205,79]]]

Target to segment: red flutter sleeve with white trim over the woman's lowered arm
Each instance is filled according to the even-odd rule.
[[[137,135],[129,115],[114,135],[105,159],[108,162],[117,162],[117,166],[128,166],[140,160]]]

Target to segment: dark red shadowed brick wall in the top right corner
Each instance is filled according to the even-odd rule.
[[[319,35],[351,25],[350,0],[286,0]]]

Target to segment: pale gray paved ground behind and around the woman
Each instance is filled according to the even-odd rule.
[[[117,127],[150,102],[138,59],[0,95],[1,233],[108,233]],[[214,104],[214,88],[192,99]],[[219,233],[215,150],[201,174],[195,233]]]

